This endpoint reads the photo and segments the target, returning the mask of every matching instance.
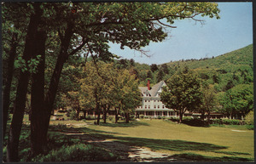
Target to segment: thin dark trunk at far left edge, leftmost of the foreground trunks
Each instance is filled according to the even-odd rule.
[[[14,64],[15,64],[15,56],[16,56],[16,48],[17,48],[17,33],[13,33],[12,41],[10,44],[10,51],[9,51],[9,59],[7,64],[7,80],[3,84],[3,139],[6,133],[7,121],[9,116],[9,93],[10,88],[13,80],[14,74]]]

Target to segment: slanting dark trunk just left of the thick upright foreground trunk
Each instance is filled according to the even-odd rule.
[[[34,3],[35,14],[31,15],[30,22],[27,28],[26,44],[23,53],[23,59],[28,61],[32,55],[35,54],[36,33],[38,25],[40,23],[43,10],[40,8],[41,3]],[[26,107],[26,91],[28,86],[28,71],[20,71],[20,79],[17,87],[15,110],[13,113],[13,119],[9,130],[9,140],[7,145],[7,161],[19,161],[19,139],[20,131],[24,116],[24,110]]]

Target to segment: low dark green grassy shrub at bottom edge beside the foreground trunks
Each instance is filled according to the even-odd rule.
[[[116,161],[117,156],[90,144],[63,145],[60,150],[51,150],[46,156],[37,156],[32,161]]]

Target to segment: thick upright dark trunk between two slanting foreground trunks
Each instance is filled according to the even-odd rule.
[[[37,35],[37,54],[41,55],[40,63],[35,73],[32,74],[32,93],[31,93],[31,155],[37,156],[43,153],[46,139],[44,137],[44,122],[41,117],[47,116],[44,107],[44,66],[45,66],[45,42],[46,32],[38,31]],[[35,57],[34,57],[35,58]]]

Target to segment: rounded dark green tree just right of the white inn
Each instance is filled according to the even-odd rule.
[[[160,93],[160,99],[167,108],[178,112],[181,123],[186,110],[198,109],[202,103],[201,82],[190,71],[173,75]]]

